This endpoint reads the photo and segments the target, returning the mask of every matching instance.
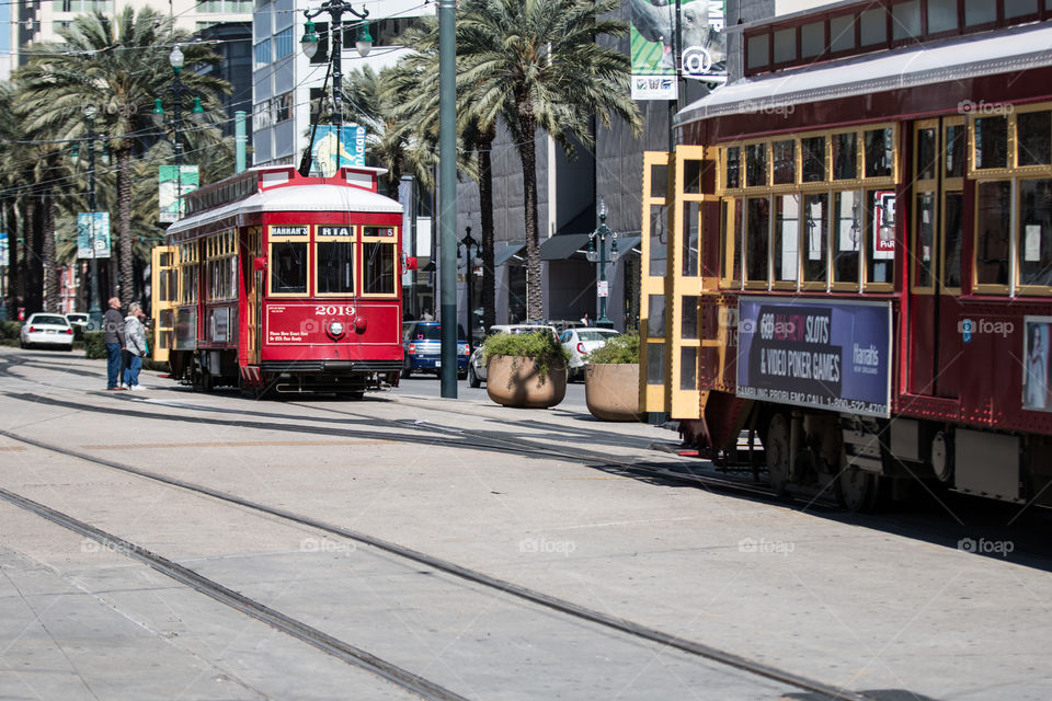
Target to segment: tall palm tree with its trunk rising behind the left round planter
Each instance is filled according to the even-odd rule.
[[[592,117],[609,127],[611,115],[636,134],[642,118],[629,97],[629,59],[595,43],[619,36],[627,26],[599,15],[618,0],[466,0],[458,18],[458,83],[470,88],[464,117],[480,127],[503,118],[523,166],[526,211],[526,312],[542,315],[540,241],[537,230],[538,129],[556,138],[567,154],[573,141],[594,142]]]

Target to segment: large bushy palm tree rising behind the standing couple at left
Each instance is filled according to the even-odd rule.
[[[95,108],[95,128],[116,160],[117,241],[124,279],[121,298],[128,303],[134,294],[132,158],[155,134],[148,123],[153,99],[161,96],[173,79],[168,55],[176,44],[188,42],[190,35],[173,30],[169,18],[149,8],[136,13],[132,7],[125,7],[116,19],[99,13],[80,15],[60,28],[59,35],[61,47],[49,47],[56,50],[42,51],[18,71],[23,93],[18,111],[30,134],[80,138],[87,134],[82,108]],[[187,89],[183,99],[199,96],[206,114],[218,114],[216,95],[229,91],[229,85],[193,70],[218,65],[218,56],[205,45],[190,43],[183,45],[183,54],[188,69],[182,74]],[[188,104],[184,113],[190,114]]]

